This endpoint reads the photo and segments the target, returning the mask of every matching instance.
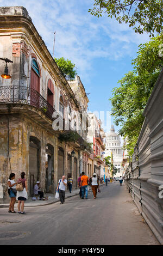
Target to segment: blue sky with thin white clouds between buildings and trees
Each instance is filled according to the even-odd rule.
[[[93,0],[0,0],[2,6],[24,6],[32,17],[49,52],[70,59],[77,66],[86,93],[89,111],[110,111],[108,101],[118,80],[132,70],[138,45],[149,40],[135,34],[125,23],[106,15],[97,19],[87,11]],[[111,118],[111,122],[113,119]],[[115,127],[118,130],[119,127]]]

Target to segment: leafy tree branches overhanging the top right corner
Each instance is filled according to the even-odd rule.
[[[136,33],[162,33],[163,1],[162,0],[95,0],[91,15],[115,17],[119,22],[126,22]]]

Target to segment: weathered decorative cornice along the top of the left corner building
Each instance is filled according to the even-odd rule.
[[[1,8],[0,8],[1,13]],[[20,28],[21,27],[21,28]],[[24,30],[25,29],[25,30]],[[37,32],[35,26],[33,25],[33,22],[29,17],[27,16],[16,16],[16,15],[0,15],[0,31],[3,33],[9,32],[10,33],[17,33],[17,32],[23,32],[28,36],[28,39],[30,39],[30,44],[33,46],[35,45],[35,48],[37,51],[39,50],[40,56],[43,59],[43,62],[48,66],[49,70],[52,70],[53,74],[55,75],[58,82],[61,84],[61,86],[65,89],[67,96],[73,100],[74,104],[80,109],[79,103],[68,84],[66,78],[62,75],[60,69],[58,68],[57,63],[52,58],[51,53],[48,51],[47,46],[45,45],[45,42],[42,40],[41,36]],[[31,46],[31,45],[30,45]]]

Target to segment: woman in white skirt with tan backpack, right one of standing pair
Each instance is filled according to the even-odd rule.
[[[22,186],[23,186],[23,190],[17,191],[17,195],[16,195],[16,200],[18,200],[18,204],[17,204],[18,214],[25,214],[24,202],[28,199],[27,180],[25,176],[26,176],[26,173],[21,172],[21,178],[17,180],[17,184],[22,183]]]

